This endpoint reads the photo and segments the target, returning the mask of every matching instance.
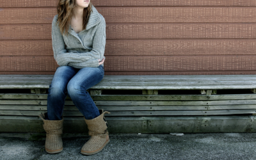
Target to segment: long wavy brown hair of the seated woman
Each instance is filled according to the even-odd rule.
[[[58,11],[58,19],[60,26],[60,32],[63,35],[65,30],[65,35],[68,33],[70,21],[72,18],[72,11],[76,7],[76,0],[60,0],[58,3],[57,11]],[[86,29],[88,24],[88,20],[90,14],[92,13],[92,3],[90,1],[87,8],[84,8],[84,15],[83,15],[83,29]]]

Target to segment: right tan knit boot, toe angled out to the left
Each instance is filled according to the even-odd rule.
[[[99,109],[100,115],[92,120],[85,120],[88,129],[89,135],[91,136],[90,140],[88,140],[83,148],[81,149],[81,154],[91,155],[100,152],[108,143],[109,136],[107,126],[108,123],[104,117],[104,114],[108,113],[108,111],[103,111]]]

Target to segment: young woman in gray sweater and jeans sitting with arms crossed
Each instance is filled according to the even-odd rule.
[[[67,95],[83,114],[90,140],[81,153],[100,152],[109,142],[107,111],[95,106],[86,92],[104,77],[106,22],[90,0],[60,0],[58,15],[52,20],[52,49],[60,65],[49,87],[47,113],[39,115],[46,131],[45,150],[50,154],[63,150],[63,107]]]

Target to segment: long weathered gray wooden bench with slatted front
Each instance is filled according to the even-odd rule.
[[[52,77],[0,76],[0,132],[44,132]],[[109,132],[255,132],[255,88],[256,75],[104,76],[88,92]],[[68,97],[63,115],[65,132],[86,131]]]

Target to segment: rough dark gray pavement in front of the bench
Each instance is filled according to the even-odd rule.
[[[89,138],[63,134],[63,152],[47,154],[45,134],[0,133],[0,159],[256,159],[256,133],[110,134],[101,152],[84,156]]]

